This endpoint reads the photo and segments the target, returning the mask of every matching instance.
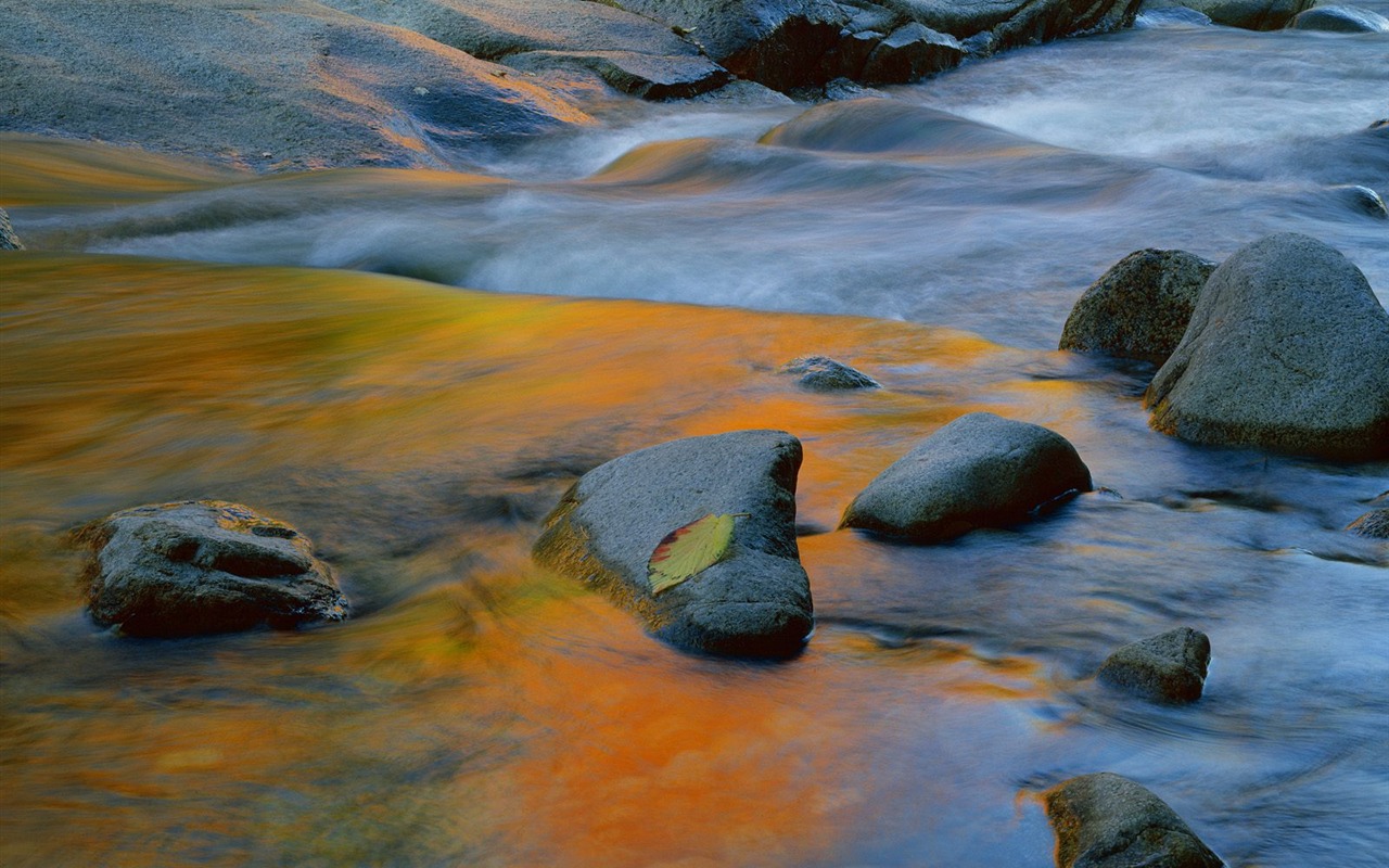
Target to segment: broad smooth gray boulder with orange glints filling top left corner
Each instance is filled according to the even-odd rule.
[[[0,129],[257,171],[465,164],[593,122],[508,67],[315,0],[14,0],[0,68]]]

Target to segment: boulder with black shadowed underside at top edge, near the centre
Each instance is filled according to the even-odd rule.
[[[822,85],[828,60],[849,25],[831,0],[615,0],[688,33],[704,53],[740,78],[775,90]]]

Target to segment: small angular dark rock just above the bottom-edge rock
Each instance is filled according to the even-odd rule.
[[[1157,703],[1192,703],[1201,697],[1210,660],[1206,633],[1182,626],[1114,651],[1099,679]]]

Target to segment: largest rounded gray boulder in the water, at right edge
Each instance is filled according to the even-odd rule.
[[[1389,457],[1389,314],[1306,235],[1272,235],[1211,274],[1145,394],[1156,429],[1333,460]]]

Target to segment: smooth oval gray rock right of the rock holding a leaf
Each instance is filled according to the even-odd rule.
[[[1078,492],[1090,471],[1061,435],[971,412],[922,440],[868,483],[842,528],[938,543],[1025,521]]]

